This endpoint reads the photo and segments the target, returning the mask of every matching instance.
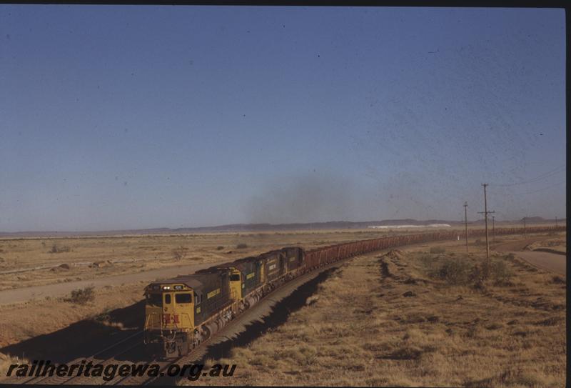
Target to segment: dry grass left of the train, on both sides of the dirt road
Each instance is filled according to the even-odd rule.
[[[374,230],[326,230],[0,239],[0,272],[18,268],[48,267],[30,272],[0,274],[0,290],[95,279],[194,263],[228,262],[288,245],[312,248],[380,237],[387,233]],[[233,247],[241,243],[247,244],[248,248],[233,250]],[[47,253],[54,244],[70,247],[70,252]],[[60,265],[62,263],[64,264]],[[88,304],[72,304],[66,302],[66,297],[46,297],[44,300],[24,304],[4,305],[0,314],[0,347],[63,329],[81,319],[104,314],[110,307],[127,307],[141,300],[146,283],[95,289],[95,300]]]

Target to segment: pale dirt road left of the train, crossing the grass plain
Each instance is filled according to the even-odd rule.
[[[121,284],[136,283],[140,281],[153,282],[156,279],[168,279],[181,274],[192,274],[199,269],[211,267],[212,263],[191,264],[181,267],[169,267],[155,269],[148,272],[137,272],[136,274],[116,275],[103,277],[101,279],[80,280],[77,282],[67,282],[58,284],[48,284],[45,286],[27,287],[23,289],[8,289],[0,292],[0,305],[27,302],[31,299],[44,299],[45,297],[64,297],[74,289],[94,286],[97,288],[105,286],[116,286]],[[142,287],[141,287],[142,292]]]

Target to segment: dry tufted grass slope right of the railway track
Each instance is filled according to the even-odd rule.
[[[462,251],[355,258],[288,322],[218,360],[238,365],[232,379],[193,384],[564,386],[561,277],[500,255],[480,288],[434,276],[447,260],[482,264],[481,250]]]

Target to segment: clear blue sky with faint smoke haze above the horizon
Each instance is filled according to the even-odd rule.
[[[0,231],[565,217],[565,12],[0,5]],[[503,185],[503,186],[500,186]]]

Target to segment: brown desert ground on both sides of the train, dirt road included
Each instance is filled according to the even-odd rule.
[[[2,373],[15,360],[51,357],[64,362],[74,359],[77,349],[96,352],[111,333],[128,334],[141,327],[142,289],[161,274],[176,276],[281,246],[309,249],[413,232],[361,229],[0,240],[3,258],[8,259],[4,263],[14,268],[17,259],[26,257],[22,268],[29,269],[2,274],[3,296],[7,289],[53,290],[34,297],[22,294],[29,297],[24,302],[3,300]],[[560,386],[566,354],[565,232],[490,240],[492,272],[482,281],[477,281],[477,268],[485,260],[482,239],[469,240],[468,254],[463,241],[448,241],[350,259],[328,274],[285,322],[265,327],[248,344],[229,344],[216,358],[207,354],[206,365],[236,364],[233,379],[223,380],[232,385]],[[69,247],[69,252],[44,252],[54,245]],[[522,258],[530,253],[537,255],[539,265]],[[42,257],[36,267],[46,268],[30,269],[31,257]],[[545,269],[541,261],[545,258],[563,263],[562,271],[557,265]],[[86,259],[91,265],[85,264]],[[26,278],[18,284],[22,276]],[[103,283],[95,284],[96,279]],[[93,288],[85,301],[74,297],[82,290],[76,284],[84,282]],[[72,291],[61,294],[62,285],[68,284]],[[90,335],[79,336],[86,327]],[[69,341],[74,343],[71,348]],[[332,379],[331,370],[343,374]],[[196,383],[221,384],[221,380]]]

